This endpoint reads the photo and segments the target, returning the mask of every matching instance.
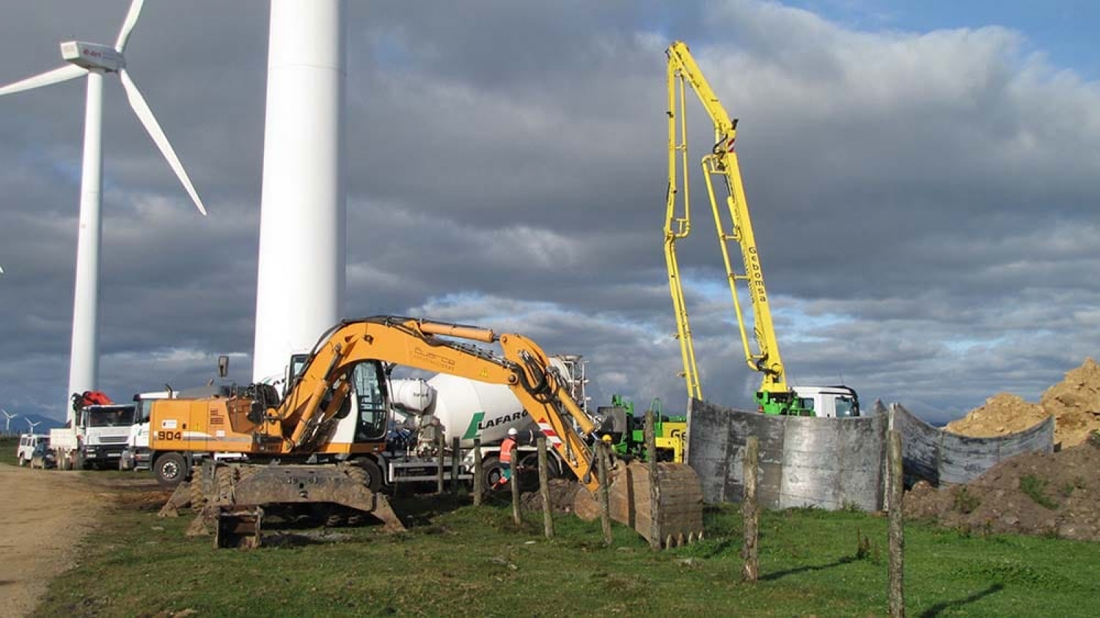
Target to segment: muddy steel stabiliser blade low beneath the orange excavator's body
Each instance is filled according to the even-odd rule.
[[[387,532],[400,532],[405,525],[382,494],[366,486],[366,473],[355,465],[248,465],[204,464],[200,478],[204,527],[215,530],[219,547],[257,547],[260,520],[266,505],[339,505],[381,520]],[[220,541],[229,533],[232,543]],[[240,537],[255,539],[241,542]]]

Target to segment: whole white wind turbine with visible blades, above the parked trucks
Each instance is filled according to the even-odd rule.
[[[69,356],[68,394],[94,390],[99,382],[99,244],[102,236],[100,211],[102,196],[100,184],[103,172],[102,162],[102,111],[103,111],[103,75],[116,73],[122,81],[122,88],[130,100],[138,120],[145,126],[150,137],[161,150],[168,165],[175,170],[187,194],[204,216],[206,207],[199,199],[183,164],[176,156],[172,144],[161,130],[148,103],[138,90],[127,71],[122,51],[127,46],[130,33],[133,32],[138,18],[141,15],[144,0],[134,0],[130,4],[119,40],[114,46],[66,41],[62,43],[62,58],[69,65],[48,70],[34,77],[29,77],[3,88],[0,96],[23,90],[50,86],[76,79],[88,78],[88,92],[85,103],[84,121],[84,167],[80,176],[80,219],[77,232],[76,250],[76,289],[73,299],[73,345]],[[68,406],[66,406],[68,409]],[[72,409],[69,415],[72,416]]]

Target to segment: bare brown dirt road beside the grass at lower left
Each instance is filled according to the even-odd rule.
[[[0,616],[34,609],[50,580],[79,560],[111,497],[79,472],[0,464]]]

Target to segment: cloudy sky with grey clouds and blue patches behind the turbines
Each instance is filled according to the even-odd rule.
[[[349,317],[521,332],[583,354],[597,404],[682,409],[662,254],[663,51],[681,38],[740,119],[791,382],[943,421],[1000,391],[1036,400],[1097,354],[1092,3],[349,4]],[[112,43],[128,5],[3,0],[0,84],[59,66],[61,41]],[[266,27],[260,0],[151,0],[127,48],[208,218],[106,85],[100,386],[117,399],[204,383],[219,354],[251,376]],[[689,113],[697,157],[710,134]],[[82,118],[81,80],[0,98],[14,412],[64,416]],[[746,407],[759,376],[695,203],[680,257],[703,394]]]

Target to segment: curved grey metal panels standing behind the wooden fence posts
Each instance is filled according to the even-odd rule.
[[[909,483],[968,483],[1001,461],[1049,452],[1054,445],[1049,418],[1019,433],[967,438],[932,427],[898,404],[887,409],[876,402],[871,416],[833,419],[768,416],[693,399],[686,461],[698,474],[705,501],[740,501],[745,443],[756,435],[761,507],[878,510],[883,508],[889,428],[901,433]]]

